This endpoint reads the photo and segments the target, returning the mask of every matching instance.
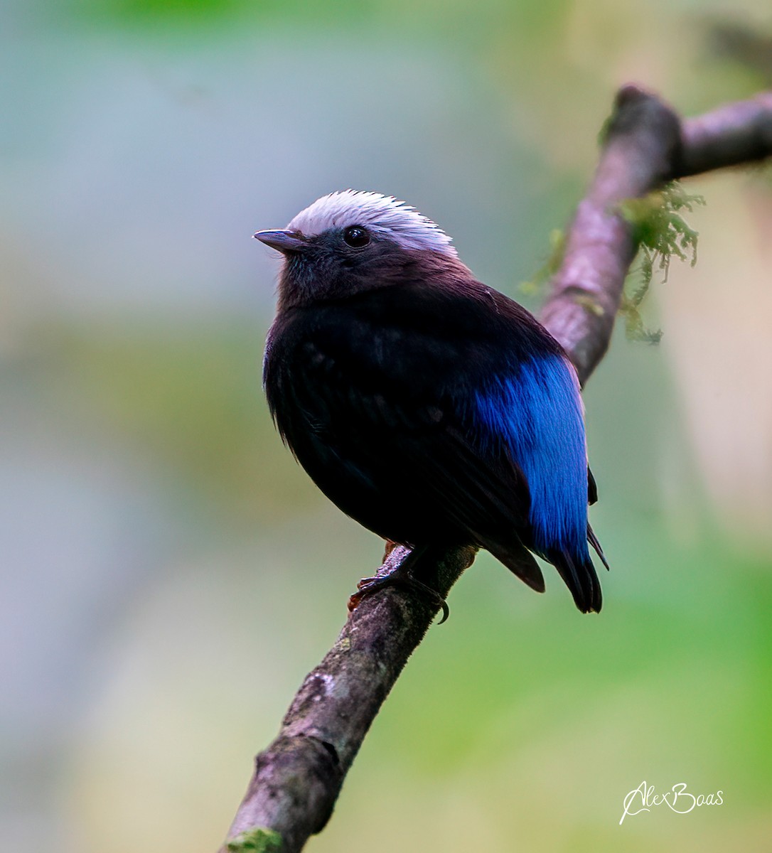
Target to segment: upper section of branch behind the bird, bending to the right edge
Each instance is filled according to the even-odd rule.
[[[620,201],[663,183],[772,154],[772,92],[681,121],[658,97],[624,86],[607,125],[601,160],[579,203],[542,322],[566,347],[584,384],[605,355],[636,255]]]

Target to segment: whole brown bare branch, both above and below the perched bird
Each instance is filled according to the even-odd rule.
[[[657,96],[631,85],[619,90],[595,177],[542,311],[583,384],[607,350],[636,255],[619,202],[673,178],[769,154],[772,93],[682,121]],[[391,572],[407,553],[393,548],[378,573]],[[445,597],[473,559],[472,548],[449,550],[422,566],[421,578]],[[425,596],[396,586],[357,606],[334,647],[306,676],[276,740],[258,755],[223,853],[297,853],[322,831],[381,703],[437,612]]]

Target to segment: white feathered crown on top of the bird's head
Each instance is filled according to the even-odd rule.
[[[406,249],[429,249],[456,255],[451,238],[415,207],[393,195],[358,189],[342,189],[322,195],[321,199],[300,211],[287,225],[287,230],[313,237],[331,228],[348,228],[350,225],[362,225],[376,235],[390,237]]]

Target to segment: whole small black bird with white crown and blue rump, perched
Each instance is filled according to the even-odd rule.
[[[254,236],[284,255],[265,393],[322,492],[414,554],[480,546],[543,592],[537,554],[599,611],[583,403],[552,335],[390,196],[335,192]]]

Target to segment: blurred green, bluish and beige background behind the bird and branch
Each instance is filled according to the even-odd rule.
[[[769,86],[769,3],[6,0],[0,7],[4,850],[216,849],[381,544],[259,384],[320,194],[396,194],[517,295],[613,91]],[[766,35],[764,35],[766,34]],[[767,41],[764,41],[764,38]],[[585,394],[612,572],[582,617],[487,555],[376,720],[314,853],[769,850],[772,184],[700,178],[694,270]],[[537,301],[531,302],[537,308]],[[686,782],[721,806],[629,817]]]

